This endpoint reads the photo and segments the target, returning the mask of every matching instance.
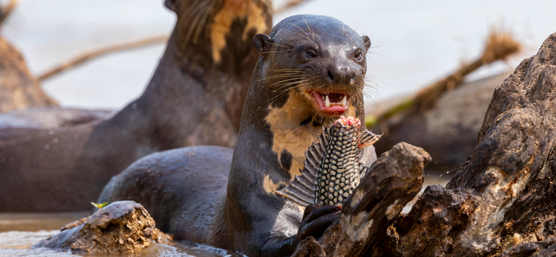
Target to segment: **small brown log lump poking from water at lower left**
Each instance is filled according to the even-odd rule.
[[[75,223],[75,224],[74,224]],[[134,201],[115,201],[88,217],[63,227],[63,231],[34,247],[89,254],[122,254],[167,242],[169,235],[156,229],[154,219]],[[77,225],[79,224],[79,225]]]

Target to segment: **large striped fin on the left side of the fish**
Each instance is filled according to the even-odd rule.
[[[301,206],[315,204],[320,163],[332,138],[333,129],[330,126],[322,128],[322,133],[318,135],[318,142],[313,142],[305,151],[305,167],[300,170],[301,175],[296,175],[293,181],[281,190],[272,190],[272,192]]]

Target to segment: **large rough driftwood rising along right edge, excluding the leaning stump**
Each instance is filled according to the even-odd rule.
[[[556,33],[498,85],[471,159],[446,188],[427,188],[373,255],[497,256],[555,235],[555,81]]]

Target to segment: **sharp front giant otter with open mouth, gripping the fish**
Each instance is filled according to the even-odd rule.
[[[363,119],[370,40],[337,19],[297,15],[254,44],[261,56],[233,154],[188,147],[146,156],[114,176],[99,202],[138,201],[177,239],[248,256],[290,255],[300,240],[322,235],[340,207],[304,209],[272,190],[300,174],[321,126],[342,114]],[[374,147],[363,151],[368,166]]]

